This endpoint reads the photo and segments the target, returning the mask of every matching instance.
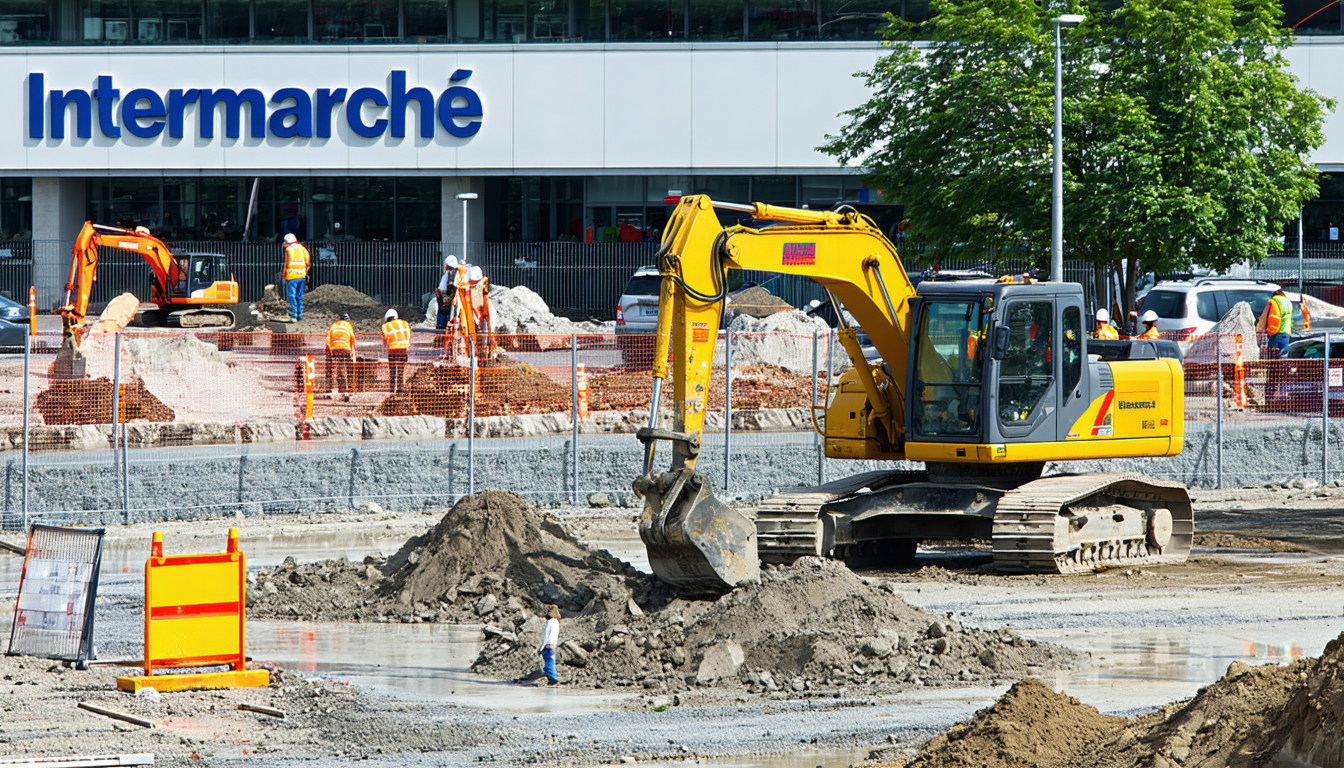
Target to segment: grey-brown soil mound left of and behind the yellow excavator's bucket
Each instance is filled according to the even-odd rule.
[[[657,605],[668,597],[648,574],[593,551],[520,496],[462,498],[434,529],[387,560],[344,558],[258,572],[247,592],[253,617],[524,623],[556,604],[577,613],[594,603]]]

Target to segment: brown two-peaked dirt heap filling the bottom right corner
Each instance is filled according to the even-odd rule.
[[[1227,674],[1188,702],[1137,718],[1107,717],[1024,681],[902,768],[1224,768],[1344,765],[1344,636],[1318,659]]]

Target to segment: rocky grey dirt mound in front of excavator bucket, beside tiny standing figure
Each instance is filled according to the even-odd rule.
[[[540,624],[505,628],[473,670],[527,678]],[[489,632],[488,632],[489,636]],[[1016,678],[1071,663],[1068,652],[1009,632],[965,629],[870,585],[840,562],[804,558],[714,603],[661,611],[589,607],[560,624],[570,682],[680,690],[695,685],[786,689],[943,685]]]

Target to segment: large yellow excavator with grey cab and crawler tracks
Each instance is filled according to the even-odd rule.
[[[750,217],[723,227],[715,208]],[[1082,286],[926,280],[852,208],[812,211],[683,198],[657,257],[663,277],[649,425],[638,430],[640,537],[681,596],[755,581],[761,562],[909,562],[921,539],[992,542],[1000,573],[1181,562],[1193,537],[1180,483],[1136,472],[1043,476],[1047,461],[1175,456],[1184,378],[1169,342],[1087,338]],[[810,277],[841,317],[851,367],[824,417],[825,455],[922,461],[793,488],[754,518],[696,471],[730,269]],[[849,324],[849,317],[852,323]],[[860,330],[879,358],[870,359]],[[672,424],[659,425],[672,360]],[[820,406],[813,406],[821,410]],[[655,472],[655,447],[672,465]]]

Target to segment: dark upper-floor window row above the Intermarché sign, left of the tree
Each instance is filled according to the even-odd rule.
[[[0,43],[872,40],[927,0],[4,0]]]

